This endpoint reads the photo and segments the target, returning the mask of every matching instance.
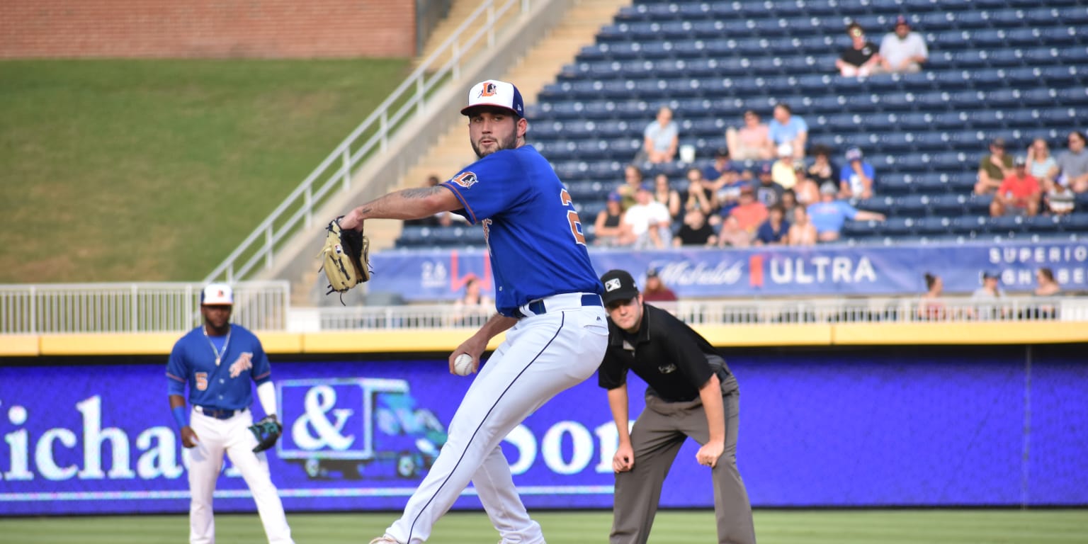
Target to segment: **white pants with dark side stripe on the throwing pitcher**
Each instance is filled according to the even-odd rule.
[[[568,297],[568,295],[559,295]],[[593,375],[604,358],[608,324],[603,307],[581,306],[522,318],[477,374],[449,423],[448,440],[404,516],[385,533],[416,544],[471,481],[504,544],[543,544],[499,447],[503,438],[559,392]],[[547,299],[545,299],[547,301]]]

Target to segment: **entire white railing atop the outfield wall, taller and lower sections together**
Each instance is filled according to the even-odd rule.
[[[194,283],[0,285],[0,334],[178,332],[200,322]],[[292,329],[286,281],[235,284],[233,320],[258,331]],[[691,324],[1088,322],[1088,297],[813,298],[656,302]],[[448,305],[306,308],[311,331],[474,330],[490,307]]]

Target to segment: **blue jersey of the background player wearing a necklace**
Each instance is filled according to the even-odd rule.
[[[203,325],[189,331],[174,344],[166,362],[170,394],[184,396],[188,384],[191,405],[221,410],[248,407],[252,403],[250,383],[260,385],[272,375],[261,341],[245,327],[232,324],[231,339],[215,366],[215,351],[209,344],[212,339],[219,341],[215,349],[223,351],[225,336],[209,338],[203,334]],[[246,353],[251,354],[252,368],[231,378],[231,364]]]

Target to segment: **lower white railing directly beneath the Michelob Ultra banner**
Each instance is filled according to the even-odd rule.
[[[1088,297],[1007,297],[1000,301],[945,298],[818,298],[652,302],[691,324],[907,323],[1059,320],[1088,321]],[[475,329],[492,308],[390,306],[321,308],[322,331]]]

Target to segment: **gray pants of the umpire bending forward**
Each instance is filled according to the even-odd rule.
[[[720,544],[754,544],[752,505],[737,470],[737,422],[739,394],[722,397],[726,420],[726,449],[712,469],[714,478],[714,516],[718,521]],[[672,467],[680,446],[688,436],[700,444],[709,440],[703,403],[666,403],[646,396],[646,409],[631,430],[634,468],[616,473],[616,506],[613,511],[611,544],[645,544],[654,524],[662,484]],[[695,463],[695,459],[681,462]],[[702,467],[701,467],[702,468]],[[660,542],[671,542],[667,535]]]

